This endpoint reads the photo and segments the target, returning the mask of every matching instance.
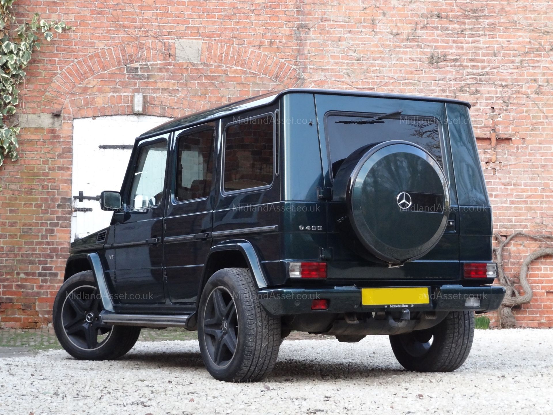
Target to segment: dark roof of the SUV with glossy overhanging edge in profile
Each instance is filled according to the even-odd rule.
[[[194,125],[202,124],[208,121],[216,120],[217,118],[226,117],[238,112],[251,110],[252,108],[269,105],[281,96],[285,94],[294,93],[309,93],[309,94],[330,94],[330,95],[352,95],[352,96],[367,96],[374,98],[394,98],[397,100],[411,100],[411,101],[432,101],[432,102],[451,102],[456,104],[465,105],[468,108],[471,104],[466,101],[454,100],[452,98],[439,98],[419,95],[407,95],[407,94],[385,94],[384,92],[371,92],[371,91],[349,91],[349,90],[336,90],[336,89],[316,89],[316,88],[289,88],[282,91],[269,92],[268,94],[259,95],[246,100],[232,102],[226,105],[210,108],[209,110],[195,112],[184,117],[175,118],[174,120],[167,121],[157,127],[150,129],[149,131],[140,134],[138,138],[155,136],[164,132],[173,131],[174,129],[180,129],[185,127],[191,127]]]

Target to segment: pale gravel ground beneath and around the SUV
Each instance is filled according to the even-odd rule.
[[[453,373],[406,372],[385,336],[285,341],[263,382],[224,383],[196,341],[139,342],[122,360],[63,350],[0,359],[0,414],[551,414],[553,330],[477,330]]]

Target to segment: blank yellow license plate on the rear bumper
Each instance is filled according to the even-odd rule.
[[[362,305],[428,304],[428,287],[362,288]]]

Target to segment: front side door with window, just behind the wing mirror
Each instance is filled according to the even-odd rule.
[[[121,303],[164,303],[163,210],[169,134],[138,143],[114,226],[115,286]]]

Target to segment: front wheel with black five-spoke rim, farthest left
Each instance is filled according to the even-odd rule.
[[[65,351],[79,360],[113,360],[132,349],[139,327],[99,323],[103,310],[92,271],[82,271],[61,286],[54,300],[54,330]]]

